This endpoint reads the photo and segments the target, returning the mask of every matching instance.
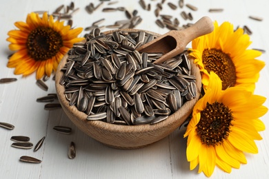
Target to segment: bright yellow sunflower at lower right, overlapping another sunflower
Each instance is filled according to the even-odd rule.
[[[258,131],[265,129],[259,117],[268,109],[257,96],[244,87],[221,90],[221,80],[210,72],[206,94],[195,105],[186,134],[187,160],[190,169],[199,163],[199,173],[211,176],[215,166],[230,173],[246,164],[243,152],[257,154],[254,140],[261,140]]]

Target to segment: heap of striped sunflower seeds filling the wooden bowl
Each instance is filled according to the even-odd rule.
[[[195,98],[188,52],[155,64],[160,53],[136,49],[156,36],[147,32],[92,30],[76,43],[61,69],[66,99],[88,120],[122,125],[154,124]]]

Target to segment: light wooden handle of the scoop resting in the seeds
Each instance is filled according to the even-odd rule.
[[[183,41],[181,41],[181,45],[186,47],[190,41],[196,39],[198,36],[203,36],[205,34],[209,34],[214,30],[214,25],[209,17],[202,17],[195,24],[191,25],[190,28],[186,28],[185,30],[177,31],[181,35],[184,36]],[[181,39],[182,40],[182,39]]]

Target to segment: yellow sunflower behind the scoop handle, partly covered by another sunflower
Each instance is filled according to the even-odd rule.
[[[195,63],[202,74],[203,87],[208,85],[209,73],[215,72],[222,81],[223,89],[243,86],[253,92],[259,72],[265,63],[255,58],[261,55],[257,50],[247,50],[251,44],[250,36],[243,29],[236,31],[228,22],[220,26],[214,23],[215,30],[192,41],[192,53]]]

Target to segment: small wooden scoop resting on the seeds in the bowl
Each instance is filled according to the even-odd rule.
[[[209,34],[214,30],[214,25],[209,17],[202,17],[190,28],[185,30],[171,30],[157,39],[142,45],[137,50],[139,52],[158,52],[162,53],[154,63],[162,63],[171,59],[186,49],[186,45],[198,36]]]

